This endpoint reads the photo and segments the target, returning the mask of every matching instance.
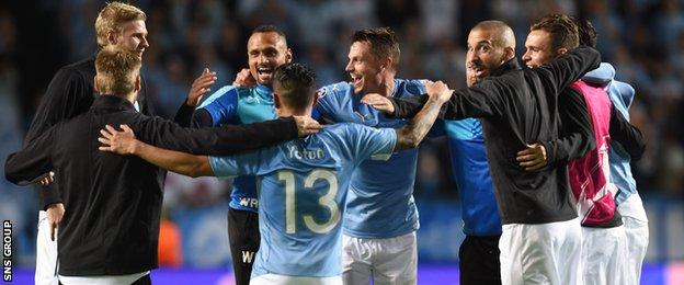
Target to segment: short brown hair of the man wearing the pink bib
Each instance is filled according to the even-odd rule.
[[[566,14],[548,14],[532,24],[529,31],[542,30],[551,35],[551,48],[575,48],[579,45],[578,26]]]

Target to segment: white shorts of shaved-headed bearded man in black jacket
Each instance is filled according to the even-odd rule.
[[[508,224],[502,227],[501,283],[581,284],[580,219],[549,224]]]

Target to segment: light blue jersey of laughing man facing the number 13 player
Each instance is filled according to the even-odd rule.
[[[425,93],[420,80],[395,80],[394,98]],[[362,104],[350,82],[326,86],[319,90],[316,110],[333,123],[352,122],[371,127],[400,128],[408,119],[388,118]],[[351,175],[349,209],[344,214],[344,233],[355,238],[392,238],[419,228],[413,201],[418,149],[395,153],[387,161],[365,161]]]

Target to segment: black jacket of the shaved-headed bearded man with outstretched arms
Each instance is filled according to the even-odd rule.
[[[445,103],[444,119],[479,117],[502,224],[546,224],[577,217],[566,164],[528,172],[515,160],[526,145],[559,137],[559,94],[601,62],[598,52],[579,47],[535,69],[515,58]],[[394,99],[395,116],[418,113],[426,96]]]

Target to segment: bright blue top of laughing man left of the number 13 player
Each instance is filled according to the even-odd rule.
[[[260,123],[274,119],[273,91],[265,86],[240,88],[226,86],[207,98],[197,109],[212,115],[214,126]],[[232,181],[230,207],[256,212],[259,200],[254,176],[238,176]]]

